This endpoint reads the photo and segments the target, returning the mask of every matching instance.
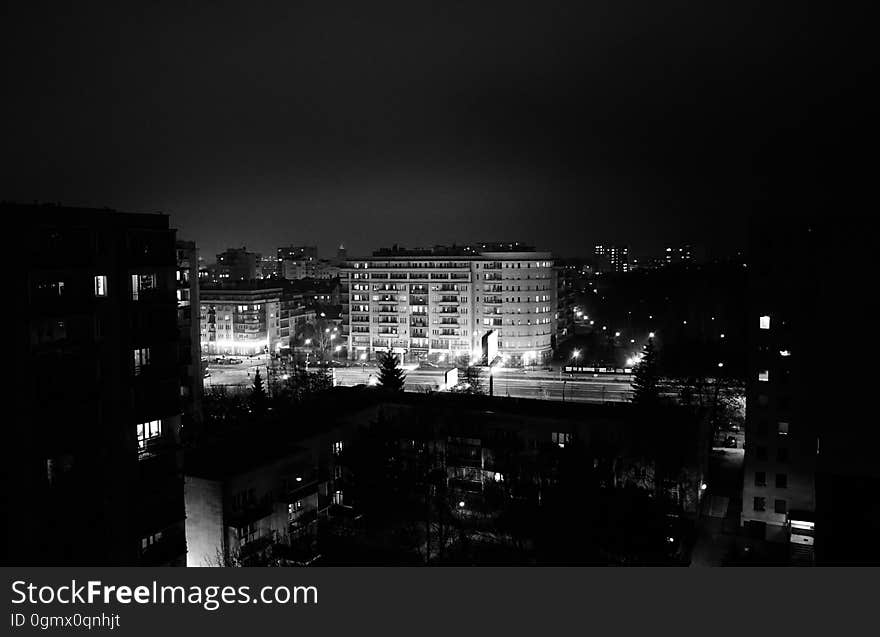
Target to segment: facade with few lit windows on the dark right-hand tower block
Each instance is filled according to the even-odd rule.
[[[809,343],[822,239],[808,224],[754,220],[750,229],[746,453],[742,524],[759,540],[811,557],[820,423],[813,415]],[[816,377],[820,377],[817,374]],[[794,528],[793,528],[794,523]],[[798,525],[810,528],[799,529]]]

